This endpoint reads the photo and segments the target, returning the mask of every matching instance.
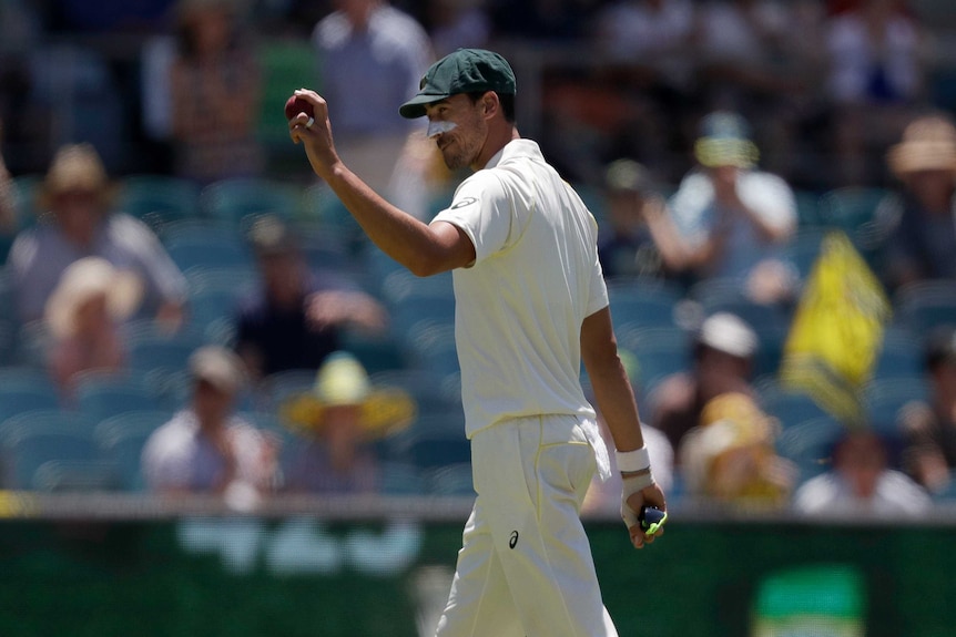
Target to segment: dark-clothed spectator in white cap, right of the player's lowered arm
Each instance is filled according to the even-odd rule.
[[[756,348],[756,333],[739,317],[728,312],[708,317],[694,339],[693,368],[665,378],[653,390],[651,424],[680,449],[684,434],[701,424],[704,405],[712,399],[729,392],[752,397]]]

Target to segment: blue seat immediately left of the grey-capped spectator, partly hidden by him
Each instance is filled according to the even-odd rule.
[[[119,489],[145,489],[141,470],[143,446],[150,435],[167,422],[173,413],[171,410],[126,411],[106,418],[95,425],[93,441],[98,453],[114,466]]]

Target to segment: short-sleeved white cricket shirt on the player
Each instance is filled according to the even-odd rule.
[[[581,322],[608,305],[594,217],[538,144],[515,140],[433,223],[461,228],[452,273],[465,429],[537,414],[594,418],[580,383]]]

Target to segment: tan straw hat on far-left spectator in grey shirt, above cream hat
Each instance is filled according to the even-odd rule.
[[[40,209],[48,210],[57,195],[75,191],[94,194],[103,207],[115,194],[99,153],[90,144],[70,144],[57,151],[37,194],[37,203]]]

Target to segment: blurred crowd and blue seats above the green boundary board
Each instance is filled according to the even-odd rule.
[[[367,244],[279,109],[317,88],[347,163],[427,219],[457,176],[397,105],[437,56],[497,47],[519,126],[598,219],[672,502],[953,502],[956,101],[940,52],[956,22],[919,9],[0,0],[0,486],[240,507],[470,494],[450,279]],[[596,483],[586,505],[618,503]]]

